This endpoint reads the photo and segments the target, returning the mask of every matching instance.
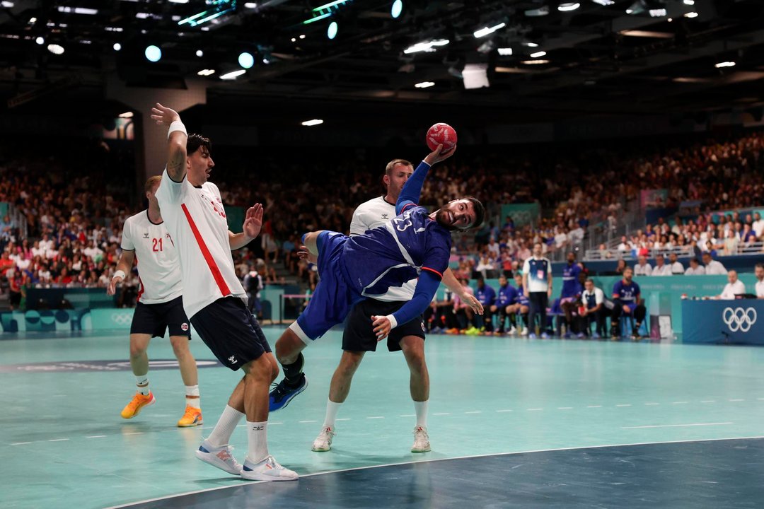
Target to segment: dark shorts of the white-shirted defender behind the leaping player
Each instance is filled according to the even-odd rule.
[[[345,324],[345,333],[342,334],[342,350],[351,352],[376,352],[377,334],[374,333],[374,327],[371,326],[372,316],[387,316],[398,311],[405,302],[386,302],[375,301],[373,298],[367,298],[365,301],[358,302],[353,307],[348,317],[348,323]],[[397,352],[400,349],[400,340],[406,336],[421,337],[425,339],[425,323],[422,316],[415,317],[406,324],[399,324],[390,335],[387,336],[387,350]]]

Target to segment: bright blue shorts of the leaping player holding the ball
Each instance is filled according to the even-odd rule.
[[[322,337],[327,330],[342,324],[353,304],[363,299],[351,291],[342,277],[340,259],[348,236],[325,230],[319,234],[319,284],[305,311],[290,329],[305,343]]]

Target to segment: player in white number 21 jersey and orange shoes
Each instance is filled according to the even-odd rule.
[[[170,233],[164,227],[156,192],[160,176],[151,177],[144,185],[148,208],[128,217],[122,227],[122,255],[106,293],[114,295],[117,285],[138,260],[138,304],[130,326],[130,367],[137,386],[133,399],[122,410],[122,417],[132,419],[154,404],[154,393],[148,385],[148,356],[146,350],[152,337],[164,337],[169,329],[170,344],[183,385],[186,385],[186,411],[178,421],[179,427],[202,424],[199,407],[199,378],[196,360],[189,351],[191,330],[183,311],[183,286],[180,284],[178,254]]]

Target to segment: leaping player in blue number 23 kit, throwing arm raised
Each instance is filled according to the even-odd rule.
[[[430,167],[454,151],[455,147],[442,152],[439,146],[419,163],[396,202],[399,215],[383,227],[354,237],[329,230],[303,237],[309,253],[318,256],[321,279],[308,307],[276,343],[284,379],[270,391],[270,411],[285,407],[305,390],[303,349],[342,324],[354,304],[419,277],[413,298],[398,311],[369,317],[377,340],[429,306],[448,268],[451,232],[478,227],[485,215],[481,202],[472,197],[449,201],[432,213],[417,205]]]

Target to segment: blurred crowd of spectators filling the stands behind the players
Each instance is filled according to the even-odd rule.
[[[530,256],[533,243],[541,242],[545,253],[569,250],[594,231],[613,230],[641,189],[668,189],[659,205],[669,208],[687,200],[697,200],[704,211],[760,203],[762,148],[759,132],[665,150],[460,147],[457,156],[432,169],[421,203],[436,207],[475,195],[487,205],[488,217],[499,218],[500,205],[538,201],[543,214],[535,221],[516,224],[503,217],[487,221],[474,235],[455,235],[458,275],[510,274]],[[315,285],[315,268],[296,256],[299,235],[317,228],[347,231],[354,208],[382,192],[387,160],[413,150],[359,149],[342,156],[325,151],[310,159],[266,150],[253,158],[251,150],[215,145],[213,152],[218,167],[212,180],[225,204],[265,205],[260,239],[235,253],[242,278],[254,270],[265,284],[282,283],[275,269],[283,266],[288,277]],[[60,140],[44,155],[20,143],[0,147],[0,202],[21,219],[0,216],[0,273],[12,298],[18,301],[30,286],[105,287],[120,255],[121,225],[144,207],[136,180],[131,149],[99,140]],[[732,253],[762,233],[764,221],[756,215],[730,213],[714,223],[699,214],[691,221],[650,225],[624,239],[623,247],[637,255],[677,246],[688,253]]]

